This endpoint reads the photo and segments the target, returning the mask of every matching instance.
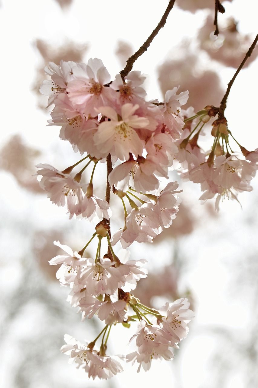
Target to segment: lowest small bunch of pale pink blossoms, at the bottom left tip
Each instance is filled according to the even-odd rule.
[[[70,355],[71,362],[76,362],[78,368],[84,367],[89,378],[92,377],[94,380],[98,377],[107,380],[123,371],[117,360],[109,356],[99,356],[96,350],[89,349],[88,345],[81,344],[69,334],[65,334],[64,340],[67,345],[62,346],[61,352]]]

